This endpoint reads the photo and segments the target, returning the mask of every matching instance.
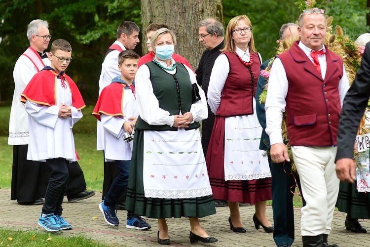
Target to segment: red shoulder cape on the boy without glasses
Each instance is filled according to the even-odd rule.
[[[118,82],[118,83],[117,83]],[[92,115],[100,120],[100,115],[105,114],[107,116],[122,116],[123,113],[123,95],[125,87],[130,88],[134,92],[135,82],[132,82],[132,85],[129,86],[121,80],[119,77],[116,77],[112,80],[111,84],[104,87],[98,101],[96,102],[94,111]]]

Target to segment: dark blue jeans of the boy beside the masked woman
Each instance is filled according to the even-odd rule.
[[[118,168],[118,175],[114,179],[111,188],[104,198],[104,205],[115,206],[122,192],[127,188],[128,174],[130,172],[131,161],[115,161]]]

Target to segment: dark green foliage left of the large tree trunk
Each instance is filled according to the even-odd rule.
[[[67,73],[86,103],[95,104],[103,57],[116,39],[121,21],[131,20],[140,26],[140,0],[64,0],[63,4],[58,0],[0,0],[1,100],[12,98],[12,71],[29,46],[27,25],[34,19],[49,22],[51,41],[65,39],[71,43],[74,61]],[[141,52],[141,47],[137,50]]]

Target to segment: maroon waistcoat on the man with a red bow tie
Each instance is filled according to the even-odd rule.
[[[338,86],[343,76],[343,60],[325,46],[327,70],[323,80],[298,42],[278,56],[289,83],[285,98],[289,143],[291,146],[336,146],[341,111]]]

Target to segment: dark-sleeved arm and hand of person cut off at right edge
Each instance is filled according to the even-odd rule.
[[[349,88],[340,114],[337,136],[338,151],[335,157],[336,175],[340,181],[356,180],[353,145],[360,120],[370,97],[370,42],[367,43],[355,81]]]

